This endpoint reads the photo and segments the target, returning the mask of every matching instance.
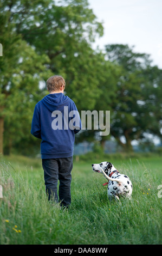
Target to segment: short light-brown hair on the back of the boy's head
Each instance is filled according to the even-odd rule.
[[[63,89],[65,88],[65,81],[62,76],[51,76],[47,80],[47,88],[49,92],[53,91],[59,91],[61,89],[61,86],[63,86]]]

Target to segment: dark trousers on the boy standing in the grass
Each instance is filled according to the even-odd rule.
[[[72,181],[73,156],[59,159],[42,159],[44,181],[48,200],[60,202],[61,206],[71,203],[70,184]],[[59,185],[59,198],[57,195],[57,182]]]

